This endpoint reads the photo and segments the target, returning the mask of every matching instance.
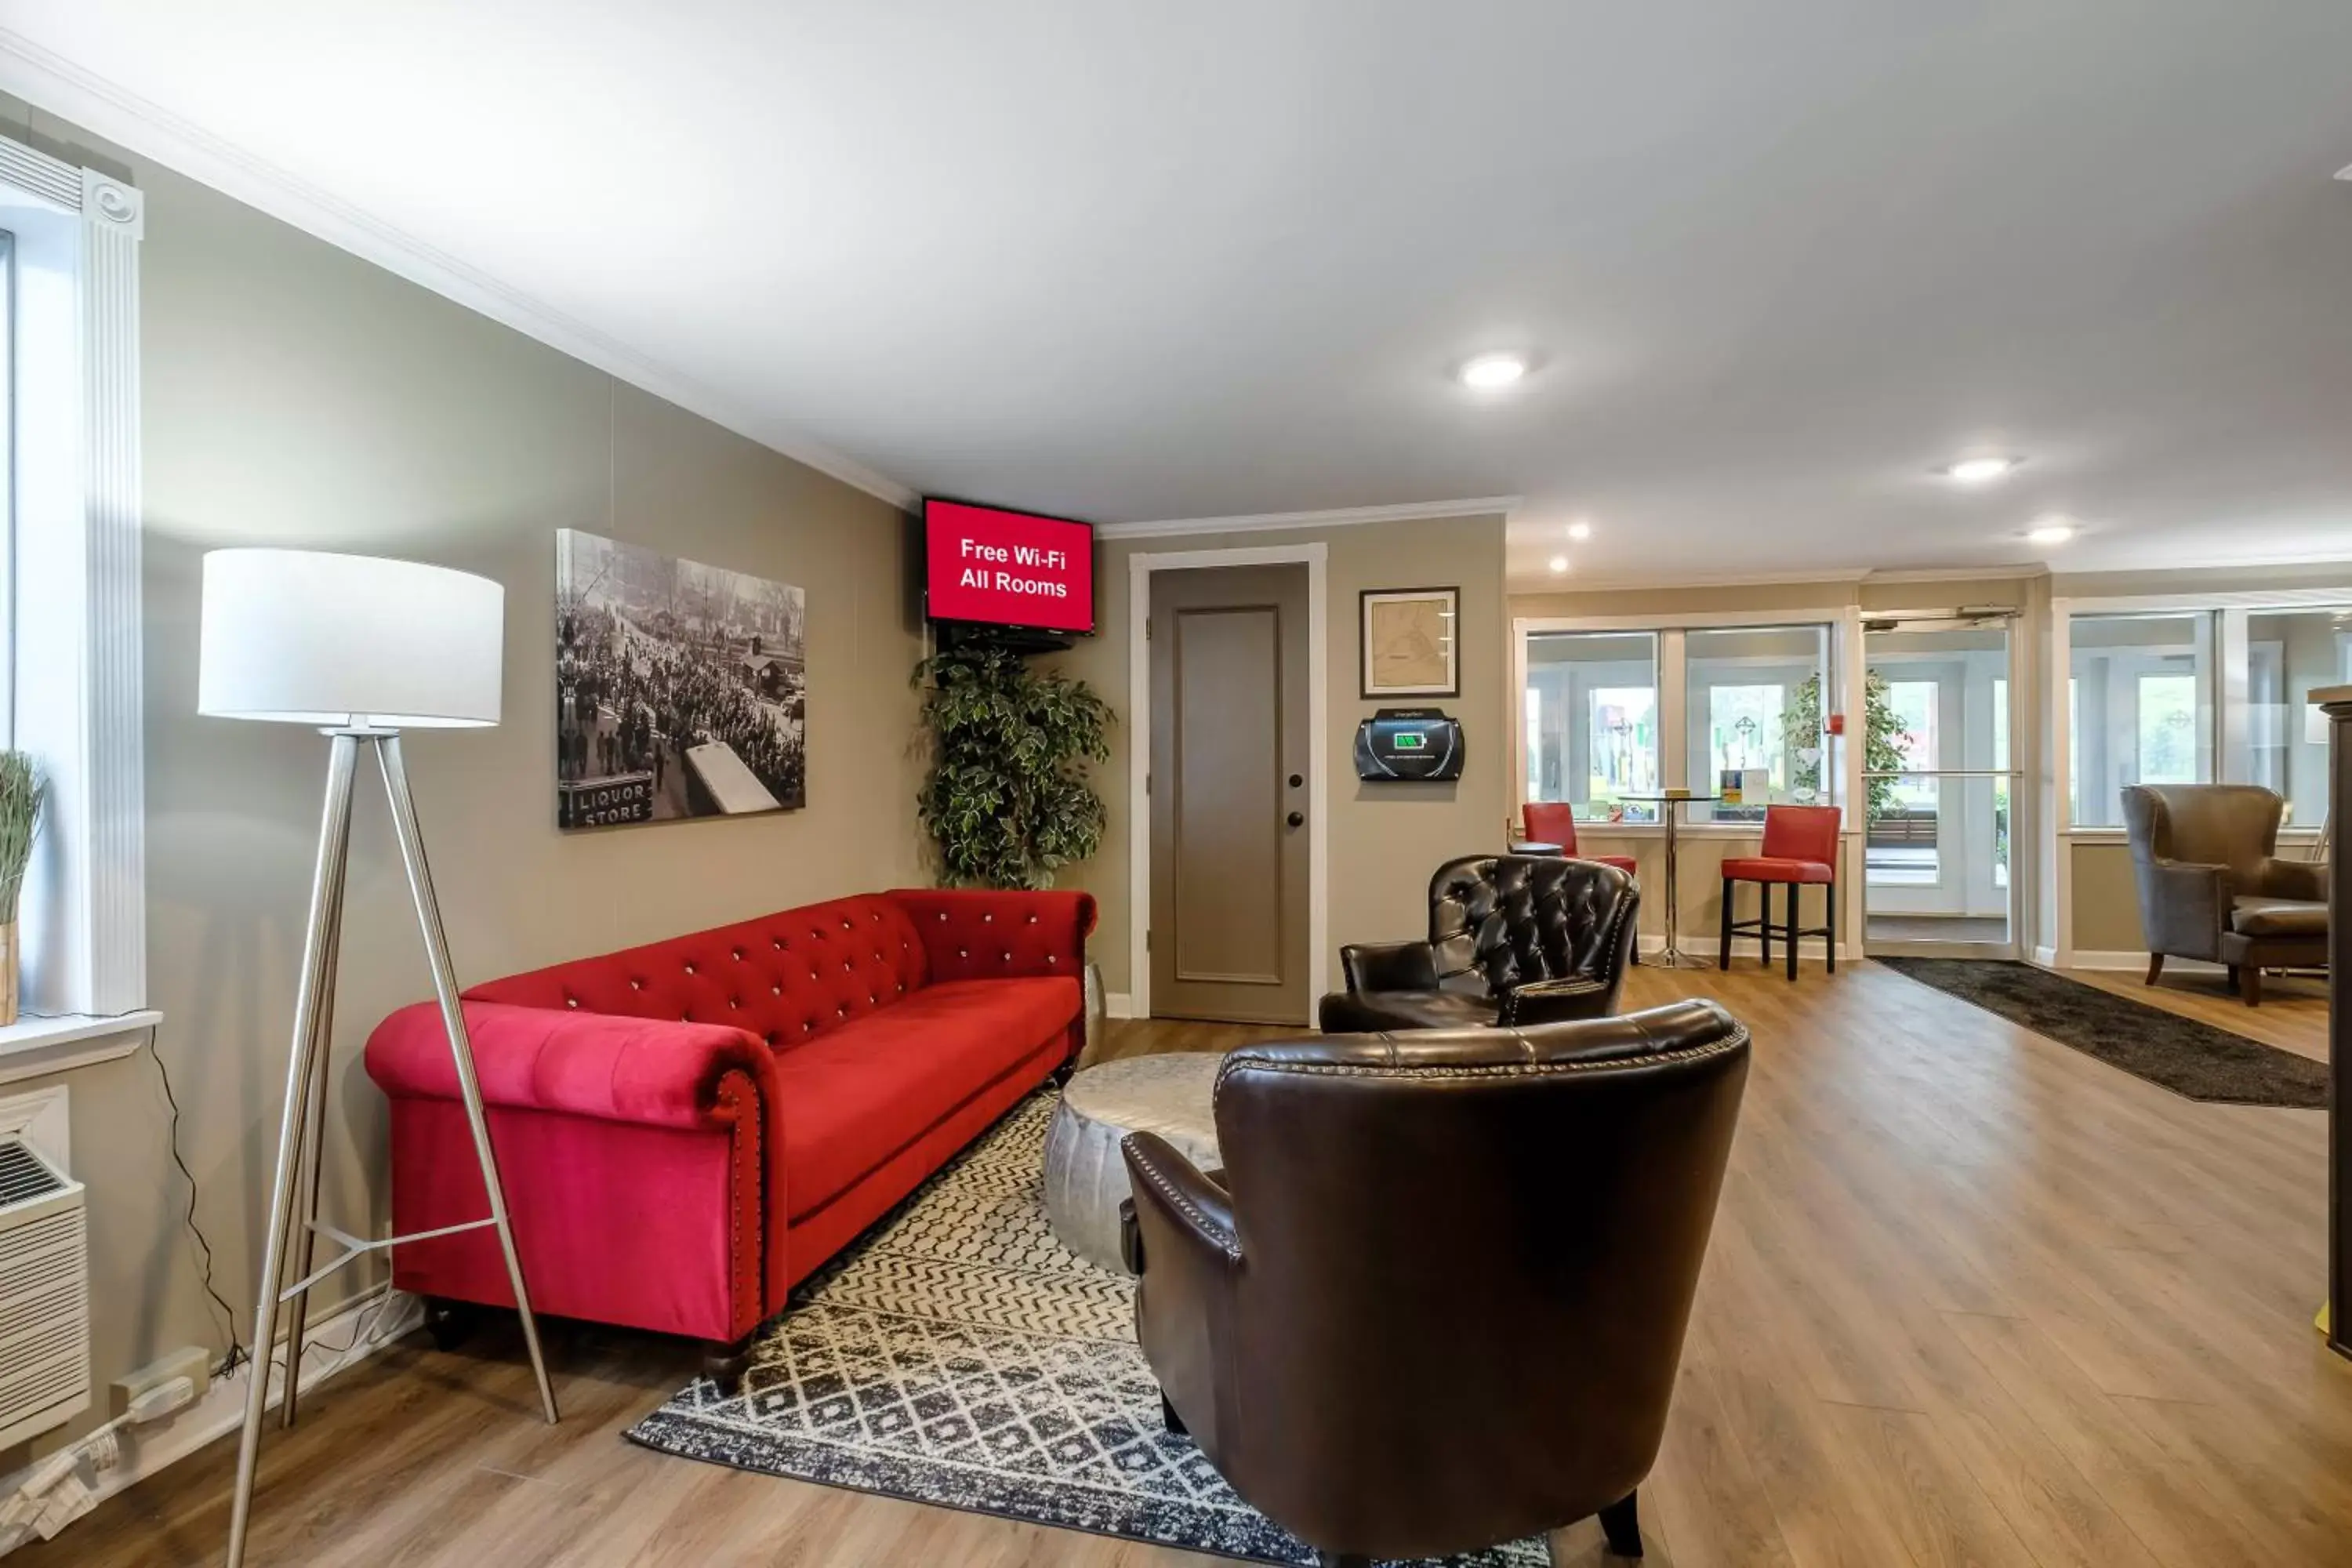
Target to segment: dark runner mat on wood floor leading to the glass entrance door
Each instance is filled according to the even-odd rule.
[[[2319,1110],[2326,1063],[2013,959],[1875,959],[2136,1079],[2211,1105]]]

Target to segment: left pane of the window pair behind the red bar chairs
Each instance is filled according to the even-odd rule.
[[[1658,820],[1658,635],[1526,637],[1526,799],[1564,799],[1583,820]]]

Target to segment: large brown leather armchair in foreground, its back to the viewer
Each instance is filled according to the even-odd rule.
[[[1230,1053],[1223,1173],[1122,1145],[1171,1429],[1327,1563],[1639,1556],[1745,1079],[1712,1001]]]

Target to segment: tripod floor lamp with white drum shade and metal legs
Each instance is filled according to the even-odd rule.
[[[228,1516],[228,1568],[245,1561],[254,1462],[270,1399],[278,1307],[289,1307],[282,1413],[292,1427],[310,1286],[355,1258],[426,1234],[496,1229],[506,1253],[506,1279],[515,1288],[515,1307],[522,1309],[522,1342],[539,1380],[539,1403],[546,1418],[555,1420],[555,1389],[539,1354],[539,1324],[532,1319],[515,1234],[506,1220],[499,1161],[489,1150],[489,1124],[482,1117],[482,1086],[473,1072],[473,1044],[456,999],[456,971],[449,966],[449,943],[442,936],[423,835],[416,827],[416,802],[409,797],[409,773],[400,759],[402,729],[482,729],[499,722],[503,639],[506,590],[466,571],[313,550],[214,550],[205,557],[198,712],[310,724],[327,736],[327,806],[318,830],[318,870],[310,879],[294,1051],[287,1065],[285,1121],[278,1133],[278,1175],[270,1185],[270,1229],[254,1295],[254,1380],[245,1401],[245,1441],[238,1448],[238,1490]],[[416,903],[416,926],[449,1030],[449,1053],[456,1058],[456,1081],[489,1199],[489,1213],[480,1220],[386,1241],[362,1241],[318,1218],[334,966],[343,926],[343,867],[350,858],[350,795],[362,748],[376,755],[376,769],[383,773],[400,863]],[[341,1251],[322,1267],[313,1267],[320,1234]]]

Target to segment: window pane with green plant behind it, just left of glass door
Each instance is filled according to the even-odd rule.
[[[1773,802],[1816,802],[1835,792],[1823,778],[1820,701],[1830,686],[1830,628],[1693,628],[1682,639],[1684,783],[1691,795],[1724,797],[1712,820],[1762,823]],[[1691,816],[1708,818],[1705,809]]]

